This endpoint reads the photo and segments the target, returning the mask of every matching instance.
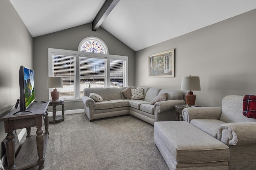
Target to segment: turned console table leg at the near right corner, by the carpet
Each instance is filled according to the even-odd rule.
[[[42,134],[42,127],[38,127],[36,131],[36,146],[38,151],[38,161],[37,165],[39,166],[39,170],[44,168],[44,135]]]

